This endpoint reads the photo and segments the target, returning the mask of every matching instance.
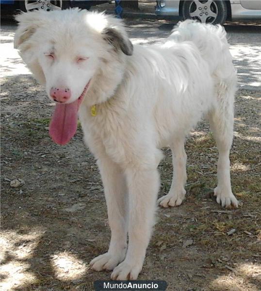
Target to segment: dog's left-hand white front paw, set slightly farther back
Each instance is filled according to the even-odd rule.
[[[102,271],[102,270],[113,270],[121,261],[123,261],[125,255],[113,255],[109,253],[105,253],[103,255],[99,255],[98,257],[94,258],[90,262],[91,269],[95,271]]]

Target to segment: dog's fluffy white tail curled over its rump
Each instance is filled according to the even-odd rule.
[[[221,79],[235,76],[227,32],[221,25],[185,20],[179,22],[168,39],[175,42],[193,42],[202,58],[209,64],[211,73]]]

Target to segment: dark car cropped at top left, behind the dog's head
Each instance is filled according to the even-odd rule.
[[[90,9],[91,6],[102,4],[108,1],[89,1],[89,0],[60,0],[60,1],[48,1],[48,0],[27,0],[27,1],[12,1],[12,0],[0,0],[1,9],[8,10],[22,10],[24,12],[38,10],[60,10],[67,9],[69,7],[80,7],[84,9]]]

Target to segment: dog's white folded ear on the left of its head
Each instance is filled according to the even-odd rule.
[[[16,16],[16,21],[18,21],[18,28],[16,30],[14,47],[18,49],[22,44],[26,43],[37,28],[43,23],[42,14],[39,11],[21,13]]]

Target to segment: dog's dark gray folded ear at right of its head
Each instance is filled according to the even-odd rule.
[[[112,28],[107,28],[104,32],[104,39],[108,41],[115,49],[121,49],[127,56],[131,56],[133,46],[130,40],[124,39],[120,32]]]

